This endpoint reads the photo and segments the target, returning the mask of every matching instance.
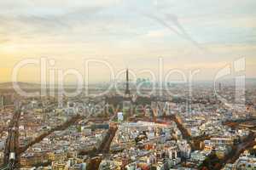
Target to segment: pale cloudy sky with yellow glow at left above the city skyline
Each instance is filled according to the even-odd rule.
[[[200,69],[200,80],[246,57],[246,75],[256,77],[255,8],[255,0],[3,0],[0,82],[21,60],[41,57],[81,74],[84,60],[101,59],[115,74],[129,67],[138,77],[157,74],[161,58],[164,74]],[[109,72],[92,65],[91,81],[108,81]],[[20,69],[19,81],[38,82],[38,65]]]

